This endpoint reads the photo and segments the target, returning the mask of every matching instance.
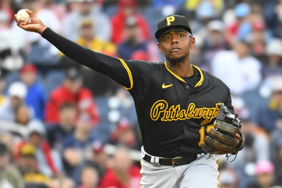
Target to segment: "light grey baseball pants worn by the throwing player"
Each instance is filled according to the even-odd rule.
[[[145,154],[147,153],[142,146],[141,157],[143,158]],[[218,188],[220,184],[216,163],[218,159],[215,155],[207,159],[208,157],[209,154],[206,154],[190,164],[178,167],[159,166],[141,159],[140,186],[141,188]]]

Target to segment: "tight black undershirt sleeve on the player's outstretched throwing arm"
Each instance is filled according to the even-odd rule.
[[[60,36],[50,28],[45,29],[41,36],[73,61],[105,74],[125,87],[130,87],[128,72],[118,58],[84,48]]]

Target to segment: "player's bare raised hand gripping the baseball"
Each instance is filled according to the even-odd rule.
[[[42,34],[42,32],[47,27],[43,24],[43,22],[40,19],[38,19],[34,15],[33,11],[30,11],[30,10],[26,9],[26,12],[31,17],[31,21],[29,23],[25,23],[24,19],[17,20],[16,19],[17,15],[15,14],[15,21],[16,21],[17,25],[19,27],[23,28],[26,31],[32,31],[32,32],[36,32],[36,33]]]

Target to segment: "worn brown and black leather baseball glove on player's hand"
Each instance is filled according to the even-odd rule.
[[[236,155],[239,150],[243,149],[245,136],[241,132],[241,122],[237,114],[232,114],[226,106],[221,103],[219,113],[214,121],[214,128],[209,130],[209,136],[204,138],[201,144],[202,150],[215,155],[226,154]],[[238,144],[236,134],[241,136]]]

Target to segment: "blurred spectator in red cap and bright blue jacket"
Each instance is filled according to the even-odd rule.
[[[36,67],[33,64],[26,64],[20,73],[21,81],[28,88],[25,103],[32,108],[35,118],[43,120],[46,98],[43,87],[36,82]]]

